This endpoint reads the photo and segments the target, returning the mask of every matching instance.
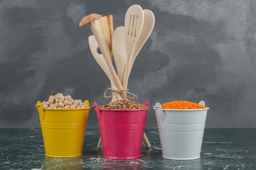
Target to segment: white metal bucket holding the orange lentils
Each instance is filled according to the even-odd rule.
[[[174,160],[200,158],[209,107],[206,109],[162,109],[159,102],[153,107],[162,157]]]

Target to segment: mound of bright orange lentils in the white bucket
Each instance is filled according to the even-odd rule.
[[[166,102],[161,106],[162,106],[162,109],[205,109],[207,108],[198,103],[184,101],[184,100]]]

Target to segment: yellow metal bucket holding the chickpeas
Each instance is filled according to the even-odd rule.
[[[84,102],[89,106],[89,101]],[[45,144],[45,156],[78,157],[82,155],[88,108],[46,109],[40,101],[38,109]]]

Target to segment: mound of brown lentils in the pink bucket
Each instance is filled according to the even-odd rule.
[[[131,100],[118,100],[110,102],[108,105],[102,105],[99,109],[110,109],[110,110],[137,110],[137,109],[148,109],[147,105],[141,105],[138,102]]]

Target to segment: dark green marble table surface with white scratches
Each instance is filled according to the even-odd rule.
[[[157,129],[145,129],[151,148],[141,157],[117,160],[97,148],[99,129],[86,129],[83,155],[45,156],[41,129],[0,129],[1,170],[255,170],[256,129],[205,129],[201,157],[178,161],[162,158]]]

